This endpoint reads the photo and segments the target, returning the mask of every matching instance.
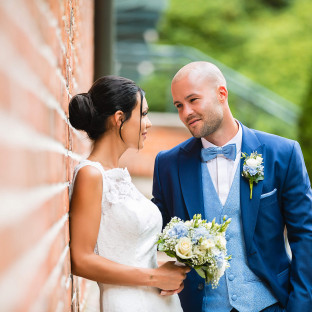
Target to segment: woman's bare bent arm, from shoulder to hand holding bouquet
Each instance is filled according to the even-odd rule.
[[[105,284],[179,289],[188,268],[166,262],[157,269],[119,264],[94,253],[100,220],[102,175],[94,167],[79,170],[70,206],[72,273]]]

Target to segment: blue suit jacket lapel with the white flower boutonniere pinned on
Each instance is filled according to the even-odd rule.
[[[243,128],[243,140],[242,140],[242,153],[250,155],[253,152],[262,154],[263,160],[265,160],[264,146],[261,145],[255,133],[249,128],[242,125]],[[243,171],[244,159],[241,159],[240,172]],[[264,161],[265,165],[265,161]],[[265,177],[264,177],[265,178]],[[246,244],[247,255],[251,252],[251,243],[253,234],[255,231],[260,196],[262,194],[263,181],[253,184],[252,199],[250,199],[250,188],[248,179],[241,175],[240,178],[240,201],[242,210],[242,223],[244,230],[244,238]]]

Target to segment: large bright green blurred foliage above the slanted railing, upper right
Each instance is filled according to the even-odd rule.
[[[277,9],[276,1],[171,0],[161,42],[198,48],[300,105],[312,59],[312,2],[280,0]]]

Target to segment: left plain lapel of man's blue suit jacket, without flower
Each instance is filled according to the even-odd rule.
[[[201,148],[201,140],[194,138],[181,148],[178,159],[182,194],[190,219],[197,213],[204,217]]]

